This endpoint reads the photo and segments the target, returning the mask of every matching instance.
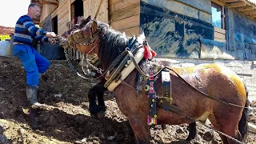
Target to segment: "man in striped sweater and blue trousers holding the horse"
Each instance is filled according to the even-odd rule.
[[[26,70],[26,97],[29,106],[43,106],[37,100],[39,78],[48,70],[50,62],[32,47],[33,38],[54,44],[56,34],[39,29],[33,20],[40,18],[41,9],[30,4],[28,14],[18,18],[14,30],[14,54],[22,60]]]

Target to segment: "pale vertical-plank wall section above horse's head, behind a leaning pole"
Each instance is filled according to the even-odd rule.
[[[87,18],[89,15],[91,18],[94,18],[101,1],[103,1],[102,6],[100,7],[96,19],[101,22],[109,22],[108,0],[83,0],[84,18]]]

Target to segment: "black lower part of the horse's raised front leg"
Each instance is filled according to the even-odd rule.
[[[104,92],[106,88],[104,87],[105,80],[98,83],[94,87],[92,87],[89,91],[88,98],[89,98],[89,111],[90,114],[98,114],[99,112],[105,112],[106,106],[104,102]],[[96,97],[98,97],[98,105],[96,102]]]

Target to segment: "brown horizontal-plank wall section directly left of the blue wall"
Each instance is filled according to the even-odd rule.
[[[110,26],[130,36],[138,35],[140,10],[140,0],[109,0]]]

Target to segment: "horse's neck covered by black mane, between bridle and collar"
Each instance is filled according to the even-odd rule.
[[[106,70],[111,62],[118,57],[124,50],[130,37],[115,30],[106,30],[106,34],[102,35],[100,43],[99,58],[102,62],[103,69]]]

